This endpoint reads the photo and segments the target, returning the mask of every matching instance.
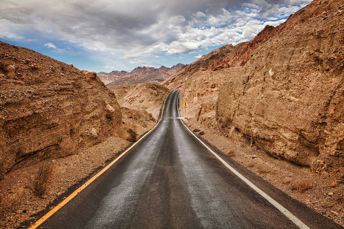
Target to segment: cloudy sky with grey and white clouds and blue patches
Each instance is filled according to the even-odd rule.
[[[89,71],[190,64],[310,0],[0,0],[0,41]]]

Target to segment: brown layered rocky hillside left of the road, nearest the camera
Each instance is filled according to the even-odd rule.
[[[97,144],[122,119],[96,73],[2,42],[0,85],[0,177]]]

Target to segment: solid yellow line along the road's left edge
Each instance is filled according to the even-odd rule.
[[[144,137],[146,137],[147,134],[149,134],[155,127],[158,126],[159,122],[162,119],[162,115],[164,112],[164,107],[165,107],[165,102],[167,100],[167,97],[170,95],[171,92],[169,92],[169,94],[166,96],[165,101],[164,101],[164,105],[162,106],[162,111],[161,111],[161,117],[159,119],[159,121],[157,122],[157,124],[155,124],[155,126],[148,131],[146,134],[144,134],[139,140],[137,140],[134,144],[132,144],[126,151],[124,151],[123,153],[121,153],[121,155],[119,155],[118,157],[116,157],[115,160],[113,160],[110,164],[108,164],[105,168],[103,168],[103,170],[101,170],[99,173],[97,173],[96,175],[94,175],[91,179],[89,179],[85,184],[83,184],[81,187],[79,187],[78,189],[76,189],[71,195],[69,195],[66,199],[64,199],[60,204],[58,204],[56,207],[54,207],[53,209],[51,209],[47,214],[45,214],[44,216],[42,216],[42,218],[40,218],[39,220],[37,220],[29,229],[35,229],[38,226],[40,226],[45,220],[47,220],[50,216],[52,216],[56,211],[60,210],[60,208],[62,208],[65,204],[67,204],[69,202],[69,200],[73,199],[76,195],[78,195],[79,192],[81,192],[84,188],[86,188],[90,183],[92,183],[95,179],[97,179],[101,174],[103,174],[106,170],[108,170],[108,168],[111,167],[111,165],[115,164],[124,154],[126,154],[131,148],[133,148],[139,141],[141,141]]]

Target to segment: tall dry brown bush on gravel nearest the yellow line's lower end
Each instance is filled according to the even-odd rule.
[[[31,177],[29,188],[35,196],[43,196],[51,186],[51,176],[53,174],[53,165],[45,163],[39,165],[34,176]]]

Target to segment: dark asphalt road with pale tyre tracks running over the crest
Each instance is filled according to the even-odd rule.
[[[342,228],[203,140],[266,196],[239,178],[183,125],[178,94],[155,129],[38,228]]]

